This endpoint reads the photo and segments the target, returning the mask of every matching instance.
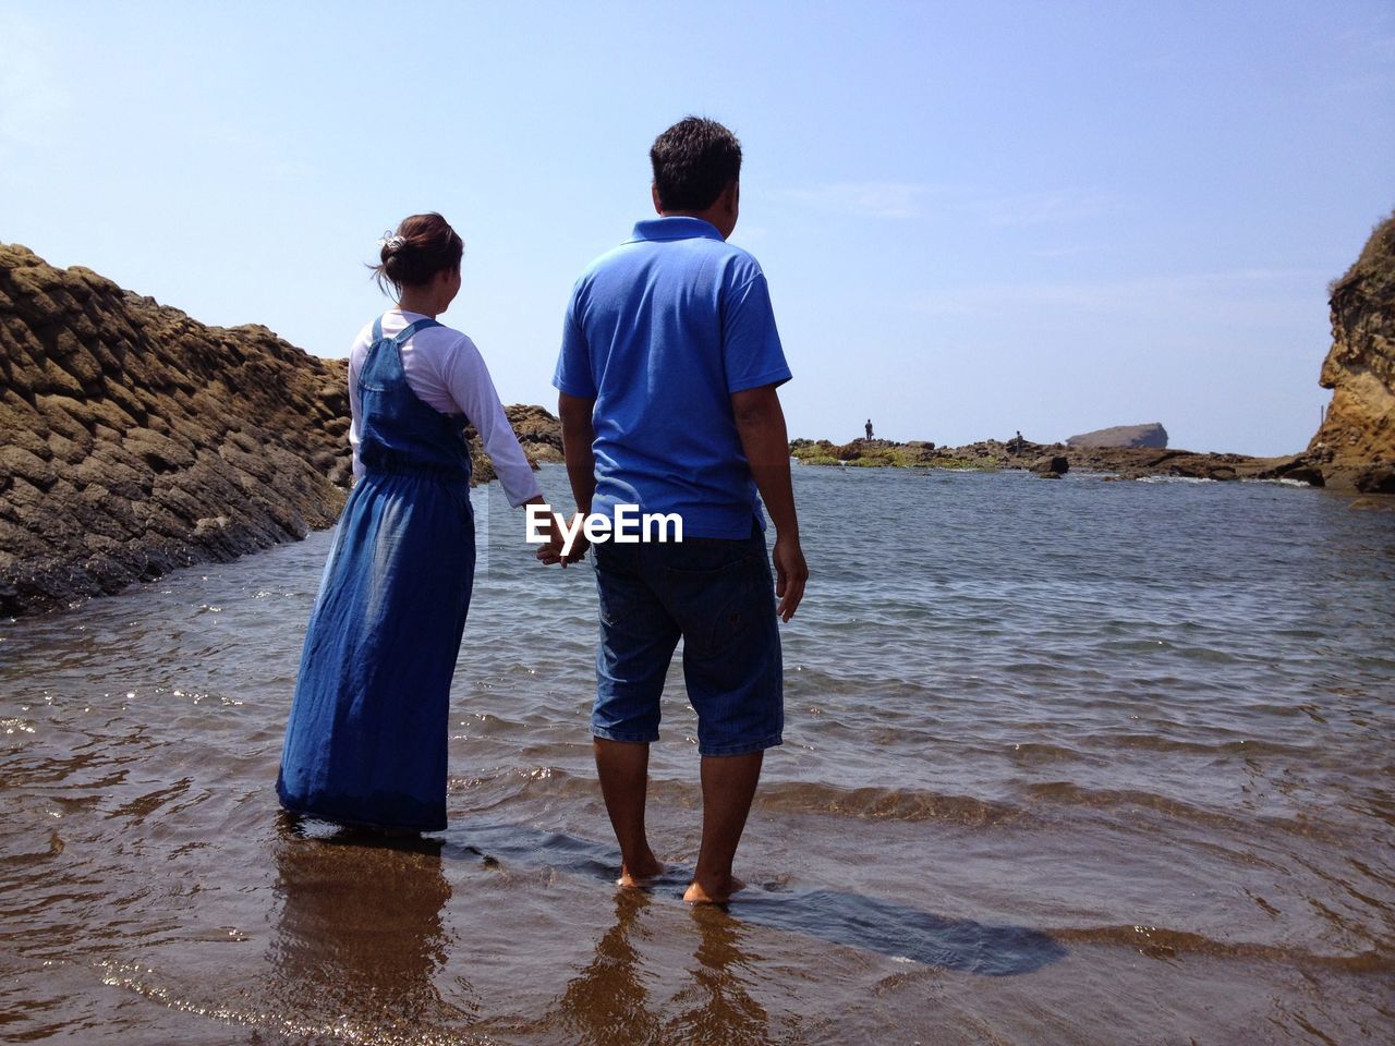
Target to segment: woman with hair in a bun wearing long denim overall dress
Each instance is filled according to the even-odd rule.
[[[345,505],[286,724],[282,806],[398,831],[445,827],[451,676],[474,582],[474,423],[509,498],[543,495],[474,343],[437,322],[460,290],[465,244],[441,215],[382,240],[378,285],[398,307],[349,357]],[[386,290],[386,287],[384,287]]]

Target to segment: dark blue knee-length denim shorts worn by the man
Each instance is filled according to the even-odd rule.
[[[679,637],[698,750],[744,756],[781,742],[784,664],[764,534],[594,545],[601,639],[591,734],[658,739],[658,699]]]

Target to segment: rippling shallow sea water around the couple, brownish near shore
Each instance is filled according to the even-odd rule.
[[[550,492],[561,469],[544,470]],[[798,469],[730,911],[675,669],[617,894],[589,566],[477,491],[451,827],[272,784],[328,534],[0,626],[0,1040],[1395,1039],[1395,513],[1268,484]],[[561,498],[559,498],[561,499]]]

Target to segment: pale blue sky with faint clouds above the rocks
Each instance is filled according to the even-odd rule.
[[[377,238],[555,409],[571,287],[681,117],[745,152],[792,437],[1303,449],[1327,285],[1395,208],[1395,4],[0,1],[0,241],[345,356]]]

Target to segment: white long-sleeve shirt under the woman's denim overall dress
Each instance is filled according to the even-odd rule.
[[[382,333],[392,338],[402,333],[409,324],[427,319],[420,312],[403,312],[392,308],[382,315]],[[349,425],[349,445],[353,448],[353,474],[363,476],[363,462],[359,460],[361,441],[363,406],[359,402],[359,370],[372,344],[372,324],[364,326],[349,351],[349,409],[353,414]],[[484,442],[484,452],[494,462],[509,505],[518,508],[529,498],[543,492],[533,476],[533,467],[523,455],[513,428],[504,416],[499,393],[494,391],[490,368],[484,357],[466,335],[448,326],[431,326],[417,331],[402,346],[402,370],[407,385],[428,407],[442,414],[465,414]]]

